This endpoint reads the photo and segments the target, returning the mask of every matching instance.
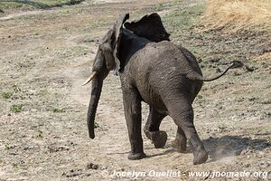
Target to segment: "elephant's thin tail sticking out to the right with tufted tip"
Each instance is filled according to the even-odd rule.
[[[235,69],[235,68],[239,68],[242,67],[243,63],[239,62],[239,61],[234,61],[232,62],[229,67],[223,71],[222,73],[220,73],[219,75],[212,77],[212,78],[204,78],[201,76],[200,73],[195,72],[195,71],[191,71],[189,73],[186,74],[186,77],[192,81],[214,81],[219,79],[221,76],[223,76],[227,71],[229,71],[229,69]]]

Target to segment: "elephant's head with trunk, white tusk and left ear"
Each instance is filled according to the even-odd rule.
[[[102,90],[103,80],[107,77],[109,71],[119,70],[120,62],[117,58],[119,43],[121,38],[121,29],[129,14],[121,15],[117,22],[110,28],[106,35],[101,39],[98,52],[96,54],[92,73],[83,85],[92,81],[91,96],[89,101],[89,110],[87,116],[89,138],[95,138],[94,119],[98,107],[98,100]]]

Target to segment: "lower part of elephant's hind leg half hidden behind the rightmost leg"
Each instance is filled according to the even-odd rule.
[[[176,138],[173,140],[173,148],[174,150],[184,153],[186,151],[186,137],[181,129],[181,127],[178,127]]]

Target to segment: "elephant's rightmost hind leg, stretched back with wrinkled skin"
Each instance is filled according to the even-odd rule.
[[[208,159],[208,154],[193,125],[191,101],[187,99],[187,96],[182,96],[181,98],[169,102],[167,108],[175,124],[183,130],[185,137],[188,139],[194,156],[193,164],[201,164]]]

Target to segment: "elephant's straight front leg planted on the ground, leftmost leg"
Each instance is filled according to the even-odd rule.
[[[137,90],[123,90],[126,125],[128,128],[131,152],[128,159],[145,157],[141,135],[141,97]]]

